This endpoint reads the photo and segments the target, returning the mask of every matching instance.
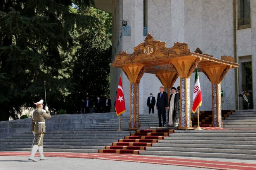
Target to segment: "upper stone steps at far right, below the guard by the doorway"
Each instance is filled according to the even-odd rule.
[[[256,129],[256,110],[236,110],[223,120],[225,129]]]

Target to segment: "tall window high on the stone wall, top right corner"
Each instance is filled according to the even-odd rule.
[[[238,0],[237,3],[238,29],[251,27],[251,5],[250,0]]]

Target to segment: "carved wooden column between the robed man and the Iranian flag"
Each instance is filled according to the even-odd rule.
[[[190,76],[200,61],[200,58],[183,58],[171,61],[180,76],[179,129],[192,129],[192,121],[190,120]]]

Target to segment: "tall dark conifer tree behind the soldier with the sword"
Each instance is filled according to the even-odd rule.
[[[71,8],[76,4],[86,11],[92,2],[0,1],[0,121],[18,119],[21,106],[33,107],[43,99],[44,81],[48,106],[58,110],[65,105],[73,88],[76,39],[81,30],[99,24]]]

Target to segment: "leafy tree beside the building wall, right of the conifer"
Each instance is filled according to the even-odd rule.
[[[92,7],[78,12],[99,19],[102,24],[93,24],[86,30],[80,30],[77,38],[80,47],[75,53],[76,60],[71,74],[74,89],[69,95],[70,112],[80,112],[86,96],[96,99],[96,95],[109,95],[111,14]]]

